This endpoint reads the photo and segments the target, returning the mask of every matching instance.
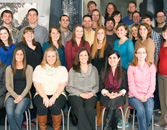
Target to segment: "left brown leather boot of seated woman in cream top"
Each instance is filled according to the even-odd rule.
[[[37,118],[40,130],[46,130],[47,115],[44,116],[37,115]]]

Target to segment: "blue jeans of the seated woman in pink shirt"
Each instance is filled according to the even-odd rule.
[[[154,99],[150,97],[146,102],[141,102],[131,97],[128,101],[129,105],[137,111],[138,130],[148,130],[154,109]]]

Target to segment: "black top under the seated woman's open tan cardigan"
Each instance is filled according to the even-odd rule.
[[[26,76],[23,76],[23,69],[16,69],[16,75],[13,76],[14,91],[21,95],[26,87]],[[26,95],[28,97],[29,94]]]

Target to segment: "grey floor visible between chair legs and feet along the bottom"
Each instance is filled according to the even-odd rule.
[[[155,116],[154,116],[154,121],[156,122],[158,120],[158,117],[160,116],[160,114],[158,114],[157,112],[155,112]],[[65,130],[67,130],[67,118],[65,117]],[[129,127],[126,128],[126,130],[132,130],[132,119],[129,119]],[[5,127],[0,125],[0,130],[5,130]],[[23,129],[24,130],[24,129]],[[36,130],[36,128],[34,126],[32,126],[31,130]],[[53,130],[52,127],[47,126],[47,130]],[[63,129],[61,129],[63,130]],[[70,130],[77,130],[76,126],[73,126],[72,123],[70,123]],[[97,130],[100,130],[100,127],[98,127]],[[119,129],[121,130],[121,129]],[[135,130],[137,130],[137,125],[135,125]],[[151,126],[149,127],[149,130],[151,130]],[[164,130],[163,127],[154,127],[154,130]]]

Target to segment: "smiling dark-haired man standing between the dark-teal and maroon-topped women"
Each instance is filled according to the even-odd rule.
[[[67,15],[62,15],[60,17],[59,24],[60,24],[62,44],[65,47],[66,42],[71,40],[72,38],[72,32],[68,29],[68,26],[70,24],[69,17]]]

